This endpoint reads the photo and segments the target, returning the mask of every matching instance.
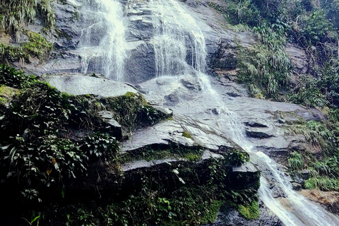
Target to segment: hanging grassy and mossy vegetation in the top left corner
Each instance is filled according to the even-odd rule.
[[[44,23],[40,34],[27,30],[25,26],[28,23],[35,23],[38,17],[41,17]],[[44,32],[55,29],[54,11],[50,0],[0,1],[0,23],[0,37],[7,33],[17,42],[20,41],[20,37],[28,38],[28,41],[18,44],[0,43],[0,62],[11,60],[23,64],[29,62],[31,57],[44,59],[52,50],[53,44],[42,36]]]

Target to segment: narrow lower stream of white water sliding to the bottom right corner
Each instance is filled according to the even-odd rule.
[[[246,138],[244,126],[237,121],[237,115],[225,107],[220,108],[219,120],[223,131],[228,131],[229,136],[250,155],[251,163],[261,171],[261,186],[258,190],[259,197],[265,205],[285,225],[293,226],[319,226],[339,225],[339,218],[332,213],[312,203],[292,189],[290,177],[278,169],[278,165],[266,154],[256,151]],[[220,122],[219,122],[220,126]],[[279,189],[279,196],[273,194],[273,186]]]

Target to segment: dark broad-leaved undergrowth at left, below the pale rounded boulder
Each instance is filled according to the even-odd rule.
[[[28,199],[40,201],[39,194],[44,196],[49,187],[63,194],[63,178],[84,175],[89,160],[117,159],[115,131],[97,116],[103,108],[126,130],[165,117],[141,95],[99,100],[71,96],[5,65],[0,66],[0,84],[19,89],[16,95],[1,94],[6,100],[0,105],[1,181]]]

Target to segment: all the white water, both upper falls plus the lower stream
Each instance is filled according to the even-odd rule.
[[[93,23],[83,30],[81,38],[83,52],[89,52],[84,54],[88,57],[83,57],[83,72],[92,66],[105,76],[122,81],[127,56],[122,6],[115,0],[95,0],[94,3],[88,5],[88,11],[93,14]],[[259,196],[263,203],[285,225],[339,225],[335,215],[293,191],[290,179],[278,170],[275,162],[252,147],[244,134],[242,121],[225,107],[204,73],[206,50],[203,33],[182,3],[175,0],[150,0],[149,8],[154,27],[154,36],[150,42],[155,49],[157,76],[178,76],[179,81],[180,76],[190,74],[200,81],[200,96],[208,100],[206,106],[212,105],[218,110],[219,118],[215,126],[244,148],[251,155],[251,162],[261,169]],[[99,35],[100,40],[93,40],[93,35]],[[182,105],[189,107],[189,102]],[[194,111],[206,109],[206,106],[189,109],[189,112],[194,114]],[[280,188],[284,198],[274,198],[270,182]]]

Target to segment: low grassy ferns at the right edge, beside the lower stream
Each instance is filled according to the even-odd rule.
[[[304,124],[290,126],[290,133],[304,135],[314,148],[323,150],[317,156],[295,151],[288,159],[293,174],[300,174],[301,169],[309,171],[309,178],[304,182],[306,189],[339,191],[338,115],[337,109],[330,109],[327,120],[307,121]]]

